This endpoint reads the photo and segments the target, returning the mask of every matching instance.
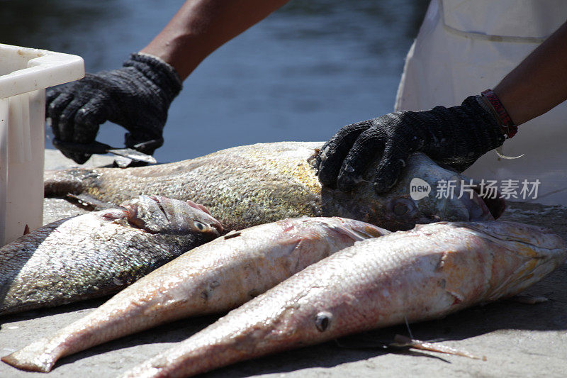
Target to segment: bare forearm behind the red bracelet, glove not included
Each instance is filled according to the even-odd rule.
[[[507,74],[494,91],[516,125],[567,100],[567,23]]]

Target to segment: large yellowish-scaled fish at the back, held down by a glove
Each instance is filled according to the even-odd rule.
[[[503,199],[481,195],[476,184],[461,185],[469,180],[422,153],[408,159],[388,194],[376,194],[371,182],[378,161],[352,191],[322,187],[315,169],[321,145],[258,143],[147,167],[47,171],[44,191],[46,196],[84,195],[113,204],[137,194],[193,199],[210,209],[225,230],[284,218],[339,216],[395,231],[417,223],[493,220],[504,211]],[[429,185],[424,198],[410,196],[414,178]],[[456,184],[454,195],[438,195],[447,182]]]

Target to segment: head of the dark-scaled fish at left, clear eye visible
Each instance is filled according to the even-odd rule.
[[[205,206],[164,196],[139,196],[125,201],[128,223],[149,233],[185,235],[198,233],[217,237],[223,232]]]

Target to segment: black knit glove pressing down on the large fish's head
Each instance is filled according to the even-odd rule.
[[[481,96],[469,96],[461,106],[400,111],[344,126],[321,148],[319,180],[348,191],[381,156],[374,189],[383,193],[394,186],[416,151],[462,172],[505,140],[495,116],[481,101]]]

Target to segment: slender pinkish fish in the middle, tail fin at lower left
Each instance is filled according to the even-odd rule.
[[[3,357],[49,372],[65,355],[189,316],[228,311],[308,265],[390,233],[344,218],[296,218],[228,233],[156,269],[86,317]]]

